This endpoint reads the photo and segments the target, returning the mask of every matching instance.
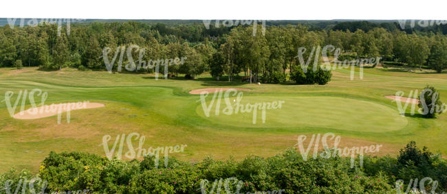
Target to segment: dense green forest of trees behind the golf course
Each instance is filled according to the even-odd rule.
[[[169,64],[169,76],[195,77],[209,71],[217,79],[228,75],[231,81],[234,75],[244,72],[248,76],[250,72],[254,82],[283,82],[286,77],[299,80],[301,72],[296,66],[300,62],[296,56],[300,47],[308,50],[303,56],[307,61],[313,47],[334,45],[340,48],[341,57],[347,56],[350,60],[380,56],[384,62],[408,69],[424,67],[438,73],[447,69],[447,36],[444,35],[447,25],[442,23],[426,29],[412,28],[408,26],[411,23],[401,29],[397,22],[369,21],[325,25],[331,29],[322,29],[318,23],[267,22],[267,25],[258,23],[256,29],[254,25],[228,25],[231,23],[168,26],[127,21],[59,26],[39,23],[34,27],[5,25],[0,28],[0,66],[39,66],[41,70],[69,66],[105,71],[104,51],[108,51],[106,57],[111,60],[116,59],[120,49],[121,55],[127,49],[127,55],[120,56],[120,60],[122,64],[135,66],[132,70],[138,73],[153,72],[145,62],[184,57],[182,64]],[[117,69],[117,64],[113,64],[113,71]],[[327,78],[330,80],[330,75],[325,77],[323,84]]]

